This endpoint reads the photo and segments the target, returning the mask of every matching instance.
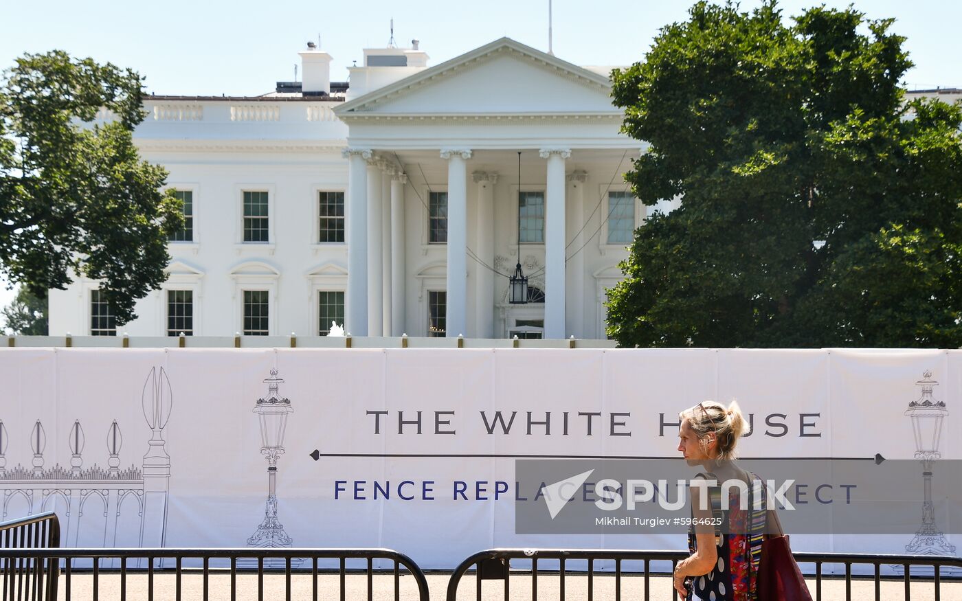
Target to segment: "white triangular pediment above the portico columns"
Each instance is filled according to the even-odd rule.
[[[510,38],[355,98],[342,119],[418,114],[619,113],[607,77]]]

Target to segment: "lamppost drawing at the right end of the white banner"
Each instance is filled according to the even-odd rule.
[[[949,544],[943,533],[935,526],[935,506],[932,503],[932,468],[935,460],[942,458],[939,451],[942,438],[942,422],[949,410],[944,401],[936,401],[932,396],[932,388],[939,385],[932,380],[932,372],[925,371],[923,380],[916,382],[922,388],[922,396],[917,401],[908,404],[906,415],[912,420],[912,432],[915,435],[915,458],[921,460],[923,467],[924,501],[922,504],[922,527],[915,534],[915,538],[905,545],[905,551],[913,555],[953,555],[955,545]],[[943,573],[952,568],[943,567]],[[962,573],[962,570],[958,570]]]

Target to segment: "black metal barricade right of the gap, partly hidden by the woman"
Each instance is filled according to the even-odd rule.
[[[556,594],[553,589],[554,585],[552,584],[552,590],[549,595],[552,599],[565,599],[565,589],[567,584],[566,576],[576,576],[587,581],[586,583],[579,581],[578,593],[581,596],[577,598],[585,598],[588,599],[588,601],[594,601],[596,577],[603,577],[606,579],[614,578],[613,593],[606,588],[602,595],[603,598],[611,598],[614,599],[614,601],[620,601],[622,588],[624,585],[622,579],[627,576],[631,578],[643,579],[643,582],[641,583],[642,595],[637,596],[636,594],[632,594],[631,598],[641,598],[644,599],[644,601],[648,601],[652,595],[650,582],[651,577],[653,575],[670,576],[674,566],[688,556],[689,554],[686,551],[635,551],[610,549],[488,549],[468,557],[468,559],[460,563],[454,569],[454,572],[451,574],[451,579],[447,584],[447,601],[457,601],[458,588],[461,585],[461,580],[472,568],[475,575],[475,598],[477,601],[481,601],[481,585],[485,580],[502,580],[504,582],[503,599],[508,601],[512,598],[512,560],[531,563],[530,568],[528,569],[514,570],[514,577],[516,578],[518,576],[530,577],[530,591],[526,591],[526,593],[522,596],[526,598],[529,597],[531,601],[537,601],[538,599],[539,573],[543,575],[548,573],[552,576],[557,574],[558,580],[556,584],[558,590]],[[845,565],[845,598],[847,601],[856,598],[852,596],[852,565],[862,564],[874,566],[873,580],[875,601],[880,601],[882,598],[882,581],[892,580],[889,577],[883,577],[881,575],[882,565],[897,566],[903,570],[901,578],[904,581],[904,598],[906,601],[909,601],[912,598],[912,591],[909,587],[910,568],[912,566],[924,566],[932,568],[931,582],[935,587],[935,601],[941,601],[942,599],[942,587],[944,583],[941,577],[941,570],[944,568],[957,568],[959,571],[962,571],[962,558],[949,556],[795,553],[795,558],[796,561],[802,565],[802,567],[805,567],[806,563],[815,564],[815,588],[811,592],[817,601],[821,601],[823,598],[823,578],[828,578],[828,576],[823,574],[823,565],[826,563]],[[614,571],[596,571],[595,562],[614,563]],[[665,565],[671,564],[671,569],[665,570],[664,572],[652,573],[652,562],[664,562]],[[541,563],[541,565],[539,565],[539,563]],[[572,563],[577,563],[577,566],[573,569],[571,565]],[[630,566],[626,565],[628,563],[630,563]],[[919,581],[922,579],[924,579],[925,582],[928,582],[929,577],[927,574],[911,576],[911,580],[913,581]],[[587,592],[580,589],[584,584],[587,584]],[[962,587],[962,583],[953,584],[953,586]],[[671,586],[671,582],[666,583],[666,587],[671,588],[671,599],[676,600],[678,598],[678,593]],[[667,590],[664,592],[667,592]],[[490,596],[486,598],[490,598]],[[858,596],[857,598],[863,599],[865,597]]]

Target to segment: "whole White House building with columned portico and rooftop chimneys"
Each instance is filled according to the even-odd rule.
[[[96,281],[51,290],[51,335],[336,321],[355,337],[604,338],[605,290],[646,215],[609,68],[509,38],[429,67],[413,42],[366,49],[347,86],[330,55],[300,56],[303,82],[263,96],[147,99],[135,139],[187,216],[169,277],[120,326]],[[517,263],[526,304],[509,302]]]

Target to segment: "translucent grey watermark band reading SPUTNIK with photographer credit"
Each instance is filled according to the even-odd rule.
[[[797,534],[916,533],[920,510],[949,528],[962,526],[955,519],[962,511],[958,461],[744,459],[738,469],[693,467],[673,460],[518,460],[515,531],[661,534],[712,525],[722,534],[744,533],[746,524],[767,522],[760,513],[771,510]],[[940,476],[927,496],[921,469]]]

